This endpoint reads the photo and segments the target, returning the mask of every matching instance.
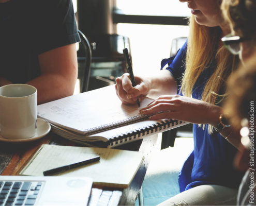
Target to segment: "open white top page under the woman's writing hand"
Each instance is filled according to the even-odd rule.
[[[141,101],[143,108],[152,99]],[[138,105],[125,105],[116,95],[114,85],[73,95],[38,106],[38,116],[50,123],[84,132],[87,129],[140,115]]]

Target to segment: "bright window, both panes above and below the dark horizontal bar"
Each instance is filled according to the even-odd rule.
[[[125,14],[190,15],[187,4],[177,0],[116,0],[116,6]],[[172,39],[188,36],[188,26],[118,23],[117,33],[130,39],[135,74],[154,73],[161,60],[170,57]]]

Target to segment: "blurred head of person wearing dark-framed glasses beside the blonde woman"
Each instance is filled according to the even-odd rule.
[[[226,47],[242,62],[250,59],[256,50],[255,0],[223,0],[221,5],[231,33],[223,38]]]

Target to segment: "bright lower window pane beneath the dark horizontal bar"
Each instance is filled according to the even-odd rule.
[[[170,57],[172,39],[188,36],[188,26],[117,24],[117,33],[130,39],[134,72],[154,73]]]

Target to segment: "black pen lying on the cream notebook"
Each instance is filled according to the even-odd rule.
[[[82,162],[77,162],[77,163],[73,163],[73,164],[69,164],[69,165],[65,165],[65,166],[61,166],[61,167],[56,167],[56,168],[53,168],[53,169],[43,171],[43,175],[44,176],[50,176],[50,175],[55,175],[57,173],[63,173],[64,171],[67,171],[67,170],[70,170],[70,169],[73,169],[73,168],[76,168],[76,167],[79,167],[79,166],[82,166],[82,165],[86,165],[86,164],[89,164],[89,163],[97,162],[99,160],[100,160],[100,157],[97,156],[97,157],[94,157],[92,159],[84,160]]]

